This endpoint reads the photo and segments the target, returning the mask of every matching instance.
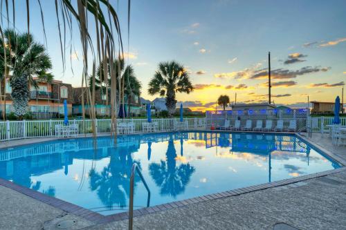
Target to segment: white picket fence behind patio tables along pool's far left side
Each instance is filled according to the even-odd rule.
[[[197,128],[201,123],[199,119],[205,118],[184,118],[188,121],[188,128]],[[152,122],[158,123],[158,131],[172,131],[174,130],[174,120],[177,122],[179,118],[167,119],[152,119]],[[55,136],[55,126],[63,124],[63,120],[33,120],[33,121],[5,121],[0,122],[0,141],[3,140],[17,140],[30,137],[53,137]],[[135,125],[135,133],[141,133],[142,123],[147,122],[147,119],[117,119],[117,124],[133,123]],[[78,135],[86,135],[92,133],[92,120],[91,119],[73,119],[69,120],[69,124],[78,124]],[[96,119],[96,133],[111,133],[111,119]]]

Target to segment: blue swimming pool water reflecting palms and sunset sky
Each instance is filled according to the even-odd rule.
[[[182,132],[44,142],[0,151],[0,177],[109,215],[127,210],[136,162],[150,205],[338,168],[294,135]],[[136,177],[136,207],[147,191]]]

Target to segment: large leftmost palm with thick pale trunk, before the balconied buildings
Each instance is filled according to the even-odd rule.
[[[48,82],[53,79],[53,75],[47,73],[47,70],[52,68],[51,58],[46,53],[46,48],[35,42],[33,36],[27,32],[19,34],[15,30],[5,30],[3,40],[0,39],[0,49],[6,50],[6,68],[10,73],[8,80],[12,87],[13,107],[15,114],[22,119],[28,111],[29,86],[37,87],[33,77]],[[4,59],[3,52],[0,58]],[[4,61],[3,64],[5,65]]]

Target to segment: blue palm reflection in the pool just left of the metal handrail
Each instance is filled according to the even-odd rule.
[[[134,163],[140,166],[140,162],[132,159],[128,148],[116,148],[110,159],[108,166],[100,173],[95,169],[89,171],[90,189],[97,191],[98,198],[106,207],[125,207],[129,196],[131,166]],[[135,177],[135,187],[138,181],[139,178]]]

